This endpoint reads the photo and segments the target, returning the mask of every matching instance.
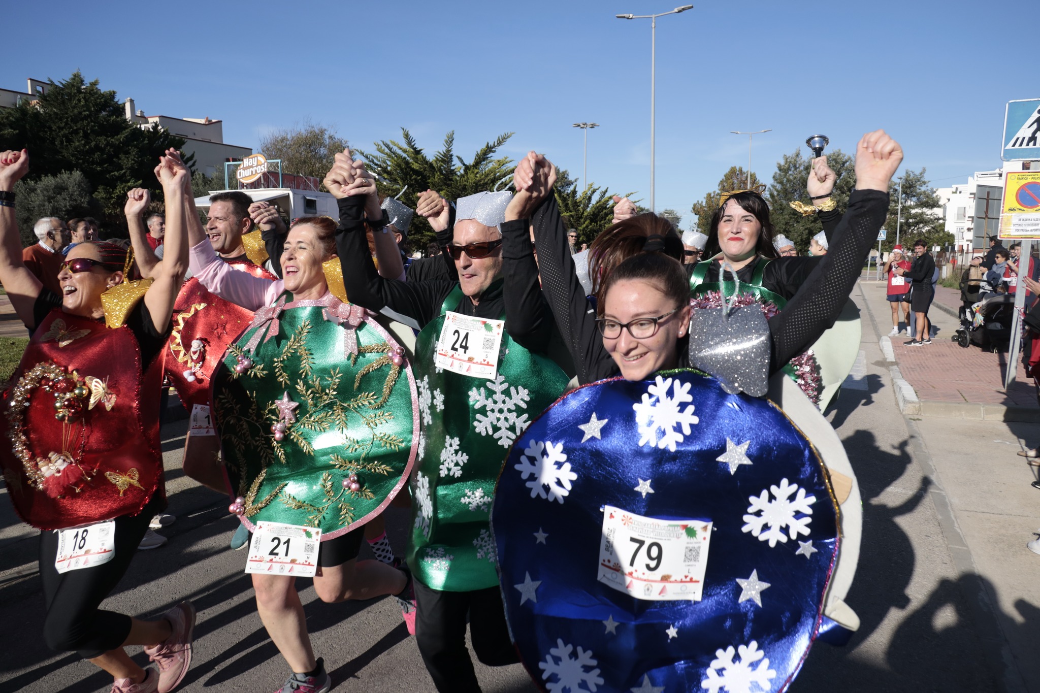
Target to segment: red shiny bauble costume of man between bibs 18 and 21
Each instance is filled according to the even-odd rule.
[[[228,263],[234,269],[274,282],[276,277],[259,265],[248,262]],[[253,312],[226,301],[202,286],[198,278],[188,279],[174,303],[174,329],[164,350],[166,377],[177,389],[181,403],[190,411],[192,406],[209,406],[210,377],[224,352],[253,322]],[[191,342],[203,342],[198,358],[191,355]],[[188,379],[188,374],[194,376]]]

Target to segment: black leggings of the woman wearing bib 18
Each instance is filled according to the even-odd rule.
[[[115,555],[101,565],[81,570],[58,572],[54,559],[58,552],[58,533],[40,534],[40,577],[44,581],[44,640],[58,651],[76,650],[85,660],[115,649],[130,635],[131,619],[124,614],[98,609],[115,589],[130,567],[148,524],[163,505],[157,492],[136,515],[115,518]]]

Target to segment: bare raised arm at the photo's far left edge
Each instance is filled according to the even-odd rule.
[[[29,153],[0,153],[0,191],[12,192],[15,184],[29,170]],[[18,317],[33,325],[32,306],[44,285],[22,261],[22,237],[15,220],[15,203],[0,201],[0,284]]]

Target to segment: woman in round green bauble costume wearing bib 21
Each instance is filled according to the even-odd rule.
[[[328,217],[298,219],[275,282],[232,270],[201,233],[189,238],[194,276],[255,313],[213,375],[212,401],[238,495],[230,510],[254,532],[246,571],[257,610],[292,669],[283,691],[331,685],[294,576],[313,575],[329,603],[405,596],[409,586],[406,570],[357,556],[365,523],[400,491],[415,460],[415,379],[390,334],[330,291],[322,265],[335,257],[335,230]]]

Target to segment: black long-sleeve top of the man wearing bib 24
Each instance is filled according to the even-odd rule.
[[[444,299],[458,286],[458,282],[447,276],[422,282],[400,282],[380,276],[368,252],[363,211],[364,198],[361,196],[343,197],[339,201],[336,249],[350,302],[392,318],[411,319],[417,327],[424,327],[441,314]],[[517,230],[526,236],[527,220],[506,221],[501,229],[503,236],[513,235]],[[530,290],[531,282],[538,286],[537,269],[529,271],[522,264],[514,265],[480,295],[479,303],[474,304],[468,296],[463,296],[458,305],[450,306],[449,310],[494,320],[504,313],[505,330],[511,338],[529,351],[546,353],[549,351],[553,331],[552,315],[541,292]],[[505,300],[506,294],[510,296],[509,301]]]

